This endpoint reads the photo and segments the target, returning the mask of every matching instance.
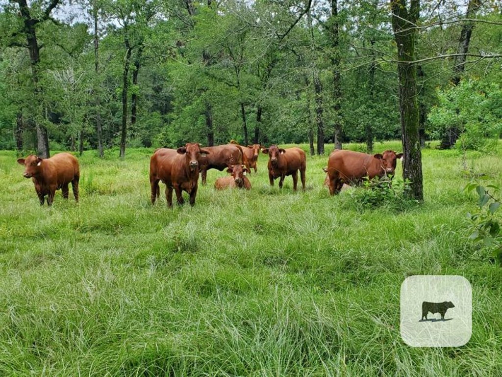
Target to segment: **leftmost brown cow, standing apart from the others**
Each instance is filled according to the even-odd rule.
[[[68,199],[68,185],[71,182],[75,202],[78,202],[78,180],[80,169],[77,159],[70,153],[58,153],[50,158],[40,158],[29,155],[20,158],[18,163],[25,165],[25,178],[32,178],[35,183],[40,205],[43,206],[47,195],[47,205],[51,206],[54,201],[56,190],[61,189],[63,198]]]

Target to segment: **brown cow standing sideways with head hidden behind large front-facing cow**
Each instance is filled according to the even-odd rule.
[[[214,147],[205,147],[209,153],[202,157],[200,161],[200,175],[202,184],[206,184],[207,170],[218,169],[219,171],[230,165],[242,164],[242,147],[235,144],[217,145]]]

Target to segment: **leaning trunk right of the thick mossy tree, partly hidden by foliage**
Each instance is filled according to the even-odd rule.
[[[469,0],[465,18],[467,19],[474,18],[475,13],[480,7],[480,5],[481,5],[480,0]],[[453,66],[452,82],[454,85],[458,85],[462,73],[465,71],[465,60],[467,58],[465,54],[467,54],[467,52],[469,51],[469,43],[473,28],[474,28],[474,23],[472,21],[463,22],[457,49],[457,53],[461,55],[458,55],[455,58],[455,65]],[[446,129],[441,138],[441,144],[439,145],[439,148],[450,149],[453,145],[455,145],[457,139],[460,137],[460,134],[461,130],[457,127]]]

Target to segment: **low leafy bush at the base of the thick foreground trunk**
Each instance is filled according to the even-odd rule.
[[[409,199],[407,195],[411,190],[411,182],[396,179],[392,176],[374,177],[366,179],[362,185],[365,190],[354,190],[350,198],[358,209],[385,207],[392,211],[401,212],[409,209],[418,201]]]

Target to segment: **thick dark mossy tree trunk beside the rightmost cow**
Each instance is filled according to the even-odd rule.
[[[409,196],[422,201],[422,154],[419,139],[419,110],[417,103],[417,67],[415,40],[417,31],[410,25],[417,23],[420,1],[411,0],[409,9],[405,0],[391,0],[392,27],[398,48],[399,103],[403,140],[403,178],[411,182]]]

